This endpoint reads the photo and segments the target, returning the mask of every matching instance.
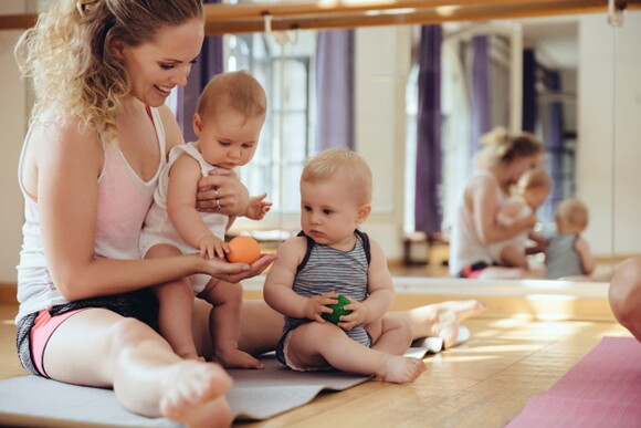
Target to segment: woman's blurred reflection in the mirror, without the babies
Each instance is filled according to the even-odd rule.
[[[530,134],[512,136],[502,128],[483,136],[482,143],[452,229],[450,274],[519,278],[524,275],[521,269],[498,267],[488,244],[513,238],[536,223],[535,215],[509,226],[500,225],[496,217],[523,173],[540,165],[543,145]]]

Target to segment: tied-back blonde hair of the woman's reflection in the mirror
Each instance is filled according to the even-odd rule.
[[[482,148],[476,156],[476,166],[492,168],[511,164],[519,157],[543,153],[543,144],[529,133],[511,135],[505,128],[496,127],[481,137]]]

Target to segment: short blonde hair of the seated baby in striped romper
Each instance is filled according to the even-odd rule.
[[[330,178],[339,178],[359,203],[371,202],[371,169],[358,154],[341,148],[320,152],[305,164],[301,182],[318,182]]]

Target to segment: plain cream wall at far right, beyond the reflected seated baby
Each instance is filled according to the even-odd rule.
[[[641,12],[627,12],[618,30],[601,14],[579,21],[577,192],[590,208],[586,238],[596,254],[641,253],[640,40]]]

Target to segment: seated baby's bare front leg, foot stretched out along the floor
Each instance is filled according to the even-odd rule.
[[[424,370],[418,358],[408,358],[369,348],[349,338],[332,323],[311,322],[292,332],[287,357],[301,368],[325,367],[375,375],[396,384],[411,383]]]

